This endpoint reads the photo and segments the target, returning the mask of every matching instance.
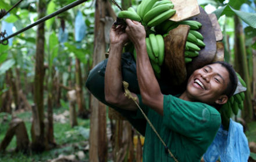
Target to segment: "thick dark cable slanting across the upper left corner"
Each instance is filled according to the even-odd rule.
[[[42,17],[42,19],[39,19],[39,20],[35,21],[33,24],[30,24],[26,28],[23,28],[22,30],[17,31],[17,32],[13,33],[12,35],[7,36],[6,38],[3,38],[0,41],[0,43],[2,43],[3,41],[6,41],[6,40],[12,38],[13,36],[16,36],[16,35],[20,34],[21,32],[29,30],[30,28],[34,27],[35,25],[38,25],[38,24],[40,24],[40,23],[42,23],[42,22],[44,22],[44,21],[46,21],[48,19],[51,19],[52,17],[54,17],[54,16],[56,16],[56,15],[62,13],[62,12],[65,12],[66,10],[69,10],[69,9],[73,8],[74,6],[80,5],[81,3],[86,2],[86,1],[88,1],[88,0],[77,0],[77,1],[74,1],[73,3],[70,3],[69,5],[66,5],[65,7],[61,8],[61,9],[56,10],[54,13],[51,13],[48,16]]]

